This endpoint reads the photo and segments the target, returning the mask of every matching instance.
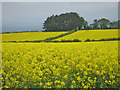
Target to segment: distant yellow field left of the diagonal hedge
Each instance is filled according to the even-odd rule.
[[[67,32],[23,32],[2,34],[2,41],[34,41],[55,37]]]

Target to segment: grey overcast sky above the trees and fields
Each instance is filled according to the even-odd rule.
[[[117,2],[3,2],[3,32],[42,30],[48,16],[77,12],[88,23],[94,19],[118,20]]]

